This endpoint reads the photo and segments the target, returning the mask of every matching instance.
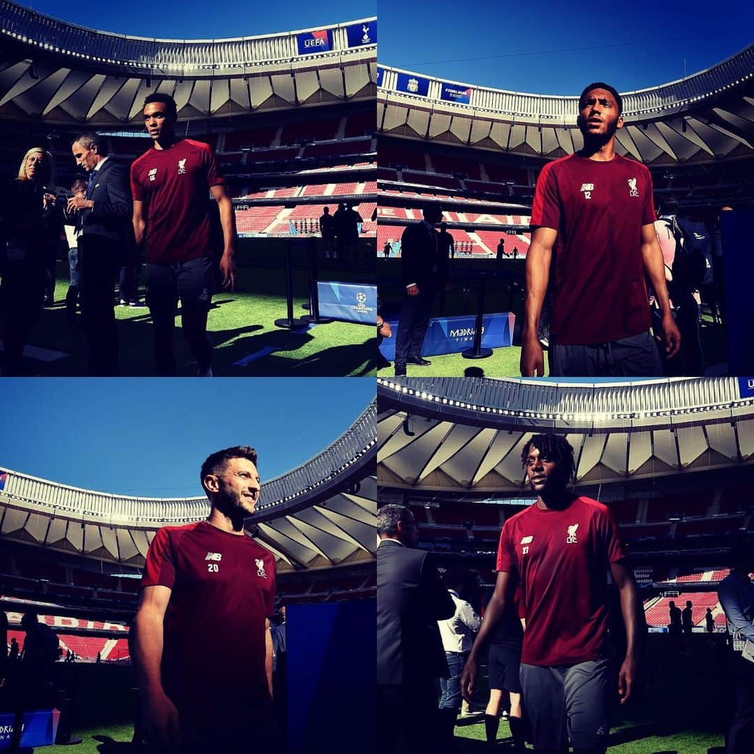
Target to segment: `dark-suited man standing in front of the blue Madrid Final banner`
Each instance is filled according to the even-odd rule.
[[[443,218],[439,204],[424,207],[421,222],[409,225],[400,239],[401,280],[405,293],[395,339],[395,374],[406,374],[406,364],[429,366],[421,358],[434,296],[448,277],[448,254],[440,248],[434,226]]]

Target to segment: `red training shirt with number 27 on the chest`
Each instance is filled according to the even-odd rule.
[[[521,580],[522,662],[574,665],[602,657],[607,569],[624,557],[608,508],[590,498],[575,498],[566,510],[535,503],[504,523],[497,570]]]

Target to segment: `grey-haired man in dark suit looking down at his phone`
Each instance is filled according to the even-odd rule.
[[[100,136],[81,133],[71,145],[76,164],[89,174],[86,198],[73,197],[68,212],[76,213],[78,265],[81,268],[81,310],[89,350],[89,374],[118,374],[118,330],[113,289],[115,273],[132,244],[131,200],[126,167],[108,158]]]

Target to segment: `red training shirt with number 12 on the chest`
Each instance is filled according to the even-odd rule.
[[[569,155],[542,168],[532,230],[558,231],[550,332],[562,345],[597,345],[650,326],[642,225],[655,220],[652,179],[639,162]]]

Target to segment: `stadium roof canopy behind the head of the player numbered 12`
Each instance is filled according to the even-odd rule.
[[[578,96],[478,87],[379,66],[380,133],[559,158],[581,149]],[[679,81],[621,93],[619,154],[654,166],[754,155],[754,44]]]

